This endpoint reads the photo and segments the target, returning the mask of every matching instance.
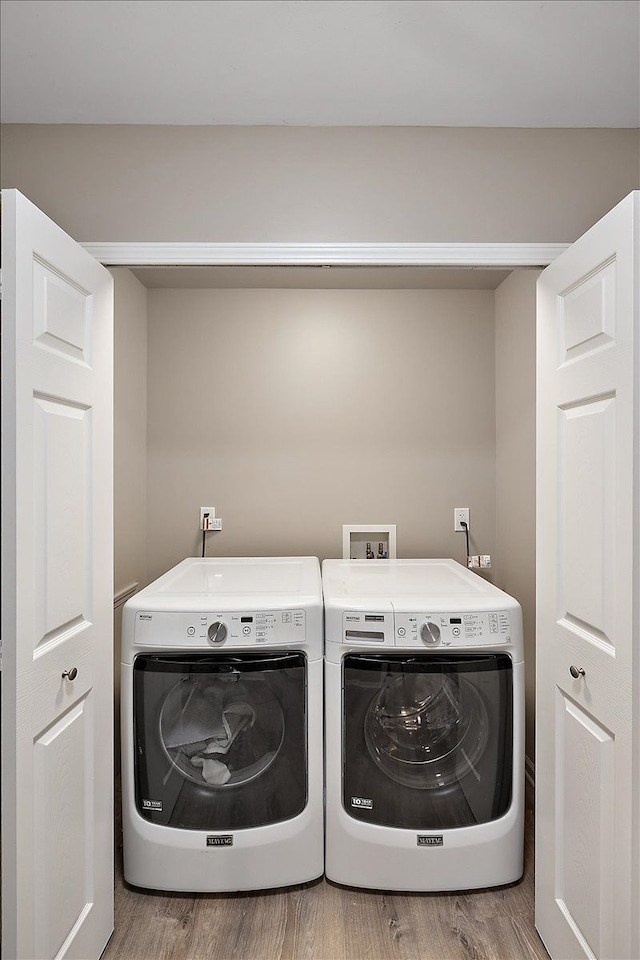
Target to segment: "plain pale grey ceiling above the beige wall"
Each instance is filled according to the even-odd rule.
[[[4,123],[639,127],[637,0],[2,0]]]

